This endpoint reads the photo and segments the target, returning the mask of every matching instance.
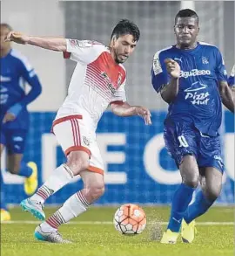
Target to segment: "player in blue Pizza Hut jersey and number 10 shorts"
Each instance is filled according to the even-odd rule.
[[[182,176],[171,204],[171,217],[161,243],[191,243],[194,219],[207,211],[220,194],[224,163],[218,128],[222,104],[234,113],[224,60],[218,48],[198,42],[198,15],[180,10],[175,17],[177,44],[156,52],[151,83],[169,104],[164,142]],[[201,184],[194,203],[194,190]],[[189,205],[190,204],[190,205]],[[182,222],[183,221],[183,222]]]

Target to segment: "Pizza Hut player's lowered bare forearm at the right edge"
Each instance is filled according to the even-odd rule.
[[[226,81],[219,82],[219,93],[225,107],[234,113],[235,102],[232,99],[232,90]]]

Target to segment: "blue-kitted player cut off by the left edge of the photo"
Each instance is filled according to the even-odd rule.
[[[37,189],[36,163],[24,163],[23,151],[29,129],[29,112],[27,105],[41,93],[42,87],[34,69],[19,52],[12,49],[10,42],[5,42],[11,31],[9,24],[0,24],[1,33],[1,80],[0,80],[0,124],[1,157],[3,149],[7,150],[7,170],[12,174],[25,177],[25,193],[31,195]],[[30,92],[25,93],[27,82]],[[1,221],[10,220],[4,201],[4,184],[1,170]]]

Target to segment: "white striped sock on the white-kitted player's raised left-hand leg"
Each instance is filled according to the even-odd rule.
[[[44,204],[48,197],[63,188],[67,183],[70,183],[73,176],[71,169],[66,164],[60,165],[56,170],[53,170],[48,180],[30,199]]]

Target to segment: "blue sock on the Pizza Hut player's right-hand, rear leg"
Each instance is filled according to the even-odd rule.
[[[189,205],[185,211],[185,221],[186,223],[191,223],[191,221],[205,213],[211,205],[214,203],[206,199],[202,190],[199,190],[196,194],[195,201]]]

